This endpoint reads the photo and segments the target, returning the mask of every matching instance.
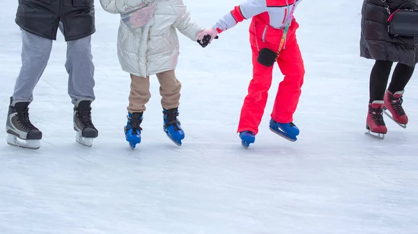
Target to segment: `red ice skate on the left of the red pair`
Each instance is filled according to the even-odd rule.
[[[383,121],[383,101],[369,103],[369,112],[366,119],[367,135],[384,139],[387,133],[385,121]]]

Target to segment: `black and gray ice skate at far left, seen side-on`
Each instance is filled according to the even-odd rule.
[[[42,132],[29,120],[29,104],[29,101],[13,103],[13,99],[10,97],[6,120],[7,143],[26,149],[39,149]],[[17,138],[24,140],[24,142],[17,140]]]

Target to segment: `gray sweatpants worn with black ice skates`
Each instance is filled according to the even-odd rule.
[[[33,101],[33,89],[42,76],[52,50],[52,40],[39,37],[22,29],[22,68],[17,77],[13,103]],[[68,94],[73,104],[94,101],[94,65],[91,54],[91,36],[67,42],[65,62]]]

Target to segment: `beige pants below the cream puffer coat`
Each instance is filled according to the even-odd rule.
[[[131,76],[131,90],[129,94],[129,106],[127,110],[134,112],[144,112],[145,104],[150,100],[150,78]],[[177,80],[174,70],[157,74],[160,82],[161,106],[166,109],[177,108],[180,103],[181,83]]]

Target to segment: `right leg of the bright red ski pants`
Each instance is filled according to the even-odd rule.
[[[288,39],[277,62],[284,80],[279,84],[271,117],[276,122],[287,124],[293,122],[304,79],[304,64],[295,34]]]

